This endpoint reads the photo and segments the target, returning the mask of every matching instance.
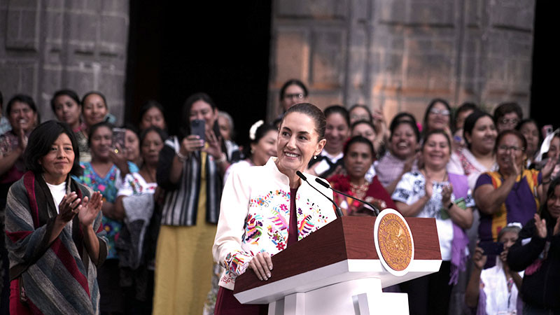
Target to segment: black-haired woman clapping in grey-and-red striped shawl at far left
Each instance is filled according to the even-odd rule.
[[[97,266],[107,253],[102,196],[81,172],[72,130],[48,121],[29,136],[29,172],[6,205],[10,314],[98,314]]]

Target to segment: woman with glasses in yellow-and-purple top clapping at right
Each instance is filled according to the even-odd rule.
[[[525,225],[543,202],[554,161],[542,171],[526,169],[526,140],[517,130],[505,130],[496,139],[497,172],[479,176],[475,202],[480,210],[479,239],[498,241],[498,232],[508,223]],[[491,264],[493,265],[493,264]]]

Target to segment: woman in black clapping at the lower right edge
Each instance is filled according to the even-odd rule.
[[[560,179],[550,184],[540,215],[519,232],[507,264],[514,271],[525,270],[523,314],[560,314]]]

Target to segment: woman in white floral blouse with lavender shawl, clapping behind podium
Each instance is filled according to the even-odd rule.
[[[447,172],[451,154],[447,132],[428,132],[421,153],[423,167],[402,176],[393,200],[403,216],[435,218],[443,261],[439,272],[400,283],[400,288],[408,293],[411,314],[447,314],[451,288],[458,271],[465,269],[464,230],[472,225],[475,204],[466,176]]]

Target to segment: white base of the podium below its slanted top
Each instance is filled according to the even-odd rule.
[[[268,304],[268,315],[408,314],[406,293],[383,293],[379,278],[343,281]]]

